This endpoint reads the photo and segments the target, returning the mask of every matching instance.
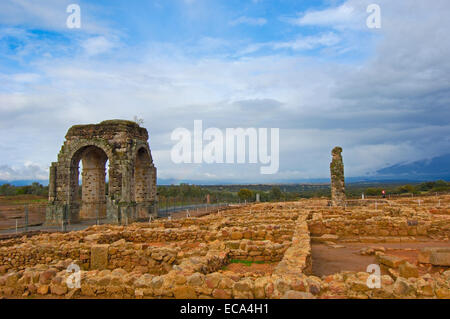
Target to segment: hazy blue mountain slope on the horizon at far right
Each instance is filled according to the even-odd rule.
[[[377,171],[378,178],[450,180],[450,154],[412,163],[400,163]]]

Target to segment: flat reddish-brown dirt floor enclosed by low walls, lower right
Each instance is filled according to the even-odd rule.
[[[449,247],[450,242],[417,242],[417,243],[344,243],[344,248],[332,248],[325,244],[311,245],[312,248],[312,270],[316,276],[327,276],[340,271],[363,271],[370,264],[377,264],[375,256],[363,256],[359,254],[362,248],[384,247],[386,254],[395,255],[408,260],[412,264],[417,263],[419,250],[425,247]],[[440,269],[432,269],[439,271]],[[419,272],[426,269],[419,268]]]

